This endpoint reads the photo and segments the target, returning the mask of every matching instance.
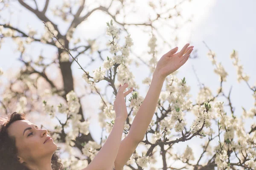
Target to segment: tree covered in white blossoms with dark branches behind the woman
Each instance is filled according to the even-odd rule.
[[[52,138],[57,144],[64,144],[65,151],[70,153],[70,157],[63,160],[64,167],[72,170],[86,167],[100,150],[106,138],[102,135],[101,142],[97,143],[91,136],[93,131],[89,130],[90,121],[85,119],[86,110],[81,107],[83,96],[79,96],[75,92],[77,84],[74,83],[76,80],[72,74],[71,66],[78,65],[80,67],[83,73],[80,81],[85,82],[85,86],[90,89],[90,93],[100,97],[99,123],[102,132],[110,133],[115,118],[113,99],[107,100],[106,94],[101,92],[97,84],[107,82],[106,86],[110,87],[108,91],[113,92],[113,95],[116,95],[119,84],[124,82],[128,82],[129,86],[134,87],[134,89],[139,89],[139,85],[135,82],[134,75],[129,69],[131,63],[134,62],[129,57],[134,42],[127,27],[150,27],[153,32],[153,30],[157,31],[154,23],[160,19],[167,21],[180,16],[177,8],[181,3],[172,8],[167,8],[167,3],[160,2],[159,4],[148,3],[148,7],[151,8],[157,18],[149,19],[145,23],[125,23],[120,22],[117,17],[120,15],[124,17],[124,9],[127,6],[132,6],[134,1],[119,0],[116,2],[111,0],[107,7],[99,5],[89,10],[86,9],[88,6],[85,0],[70,0],[62,3],[61,6],[52,8],[52,12],[50,12],[48,9],[50,0],[45,0],[44,4],[38,0],[31,2],[18,0],[14,3],[9,2],[9,0],[1,0],[1,13],[19,5],[23,10],[29,11],[30,14],[35,15],[38,20],[45,24],[45,26],[43,23],[38,26],[40,28],[29,27],[25,30],[24,27],[18,24],[14,25],[12,22],[6,22],[8,17],[0,20],[0,46],[1,43],[5,43],[5,40],[13,40],[17,43],[19,59],[24,64],[15,76],[9,78],[9,83],[3,88],[0,97],[1,113],[17,111],[32,114],[32,112],[35,112],[38,116],[49,114],[51,119],[57,119],[59,124],[52,125]],[[116,6],[118,7],[116,8]],[[111,7],[115,8],[115,14],[112,14]],[[159,13],[157,8],[164,8],[165,10]],[[107,48],[103,50],[99,49],[96,39],[84,42],[79,36],[73,36],[78,26],[97,10],[104,11],[112,18],[106,24],[106,33],[109,40],[106,43]],[[48,17],[50,14],[52,16]],[[69,26],[66,32],[61,31],[61,24],[58,25],[54,22],[54,19],[50,19],[54,17],[58,17],[58,20],[61,18],[68,23]],[[118,28],[118,25],[122,28]],[[44,28],[44,31],[42,31],[42,28]],[[36,31],[36,29],[41,29],[41,31]],[[128,35],[122,36],[122,32],[126,32]],[[157,65],[157,36],[155,34],[150,36],[148,54],[151,55],[151,58],[147,62],[139,57],[138,59],[149,68],[152,75]],[[163,37],[160,37],[160,40],[161,38]],[[124,45],[121,45],[119,40],[125,40]],[[164,42],[164,39],[162,41]],[[34,43],[37,48],[43,48],[43,46],[54,48],[55,57],[52,57],[50,62],[47,62],[47,57],[43,55],[39,55],[36,59],[35,57],[25,59],[29,56],[30,46]],[[104,51],[109,51],[111,56],[103,55]],[[102,64],[100,67],[89,71],[87,66],[95,62],[92,57],[92,54],[95,53],[98,54]],[[221,63],[217,62],[213,51],[209,49],[207,55],[211,59],[212,65],[215,66],[215,73],[220,77],[220,88],[217,94],[212,94],[212,91],[204,86],[200,89],[196,102],[192,103],[189,94],[190,86],[186,83],[185,77],[180,79],[175,76],[177,71],[166,77],[166,90],[161,91],[154,111],[155,117],[148,126],[144,139],[140,142],[147,150],[142,152],[136,150],[126,163],[125,170],[256,169],[256,124],[251,125],[248,132],[244,130],[243,125],[244,118],[254,119],[256,116],[256,84],[254,86],[248,84],[249,76],[243,73],[243,67],[239,64],[238,53],[234,50],[230,54],[230,59],[234,61],[233,65],[237,68],[238,81],[247,83],[255,99],[255,104],[249,111],[244,109],[241,117],[235,116],[230,101],[230,93],[226,95],[222,89],[222,85],[226,82],[228,76],[227,71]],[[86,56],[88,60],[91,60],[87,66],[79,62],[81,56]],[[136,64],[138,64],[137,61]],[[55,79],[50,78],[52,71],[47,73],[47,69],[52,65],[55,65],[54,69],[60,75]],[[0,76],[2,74],[3,71],[0,70]],[[142,83],[148,85],[150,85],[150,82],[151,77],[142,81]],[[2,82],[2,84],[4,83]],[[228,115],[224,110],[224,102],[218,100],[219,96],[224,96],[227,99],[231,115]],[[125,122],[123,137],[127,136],[134,116],[139,111],[143,100],[144,98],[134,90],[132,96],[126,101],[129,114]],[[42,110],[44,110],[44,113],[42,113]],[[190,127],[187,126],[186,122],[186,114],[189,112],[195,115]],[[66,121],[61,122],[58,115],[66,117]],[[218,128],[214,128],[212,125],[216,125]],[[68,131],[68,127],[71,127],[72,130]],[[201,145],[203,151],[196,153],[200,155],[199,159],[195,159],[195,153],[189,145],[184,148],[184,153],[181,155],[172,152],[172,148],[181,142],[196,137],[204,140]],[[72,153],[75,148],[85,158],[73,156]],[[157,161],[157,157],[161,157],[162,161]],[[170,164],[171,160],[179,161],[181,167],[172,166]]]

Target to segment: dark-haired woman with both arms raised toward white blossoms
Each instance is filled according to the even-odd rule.
[[[124,97],[128,84],[120,85],[114,102],[115,123],[108,139],[90,164],[82,170],[122,170],[137,145],[143,140],[154,115],[163,82],[189,58],[193,46],[186,44],[177,52],[173,48],[157,62],[148,93],[137,112],[128,135],[121,141],[128,113]],[[185,54],[185,55],[184,55]],[[184,55],[184,56],[183,56]],[[0,170],[59,170],[62,164],[56,154],[56,144],[47,130],[29,122],[23,113],[11,113],[0,118]]]

